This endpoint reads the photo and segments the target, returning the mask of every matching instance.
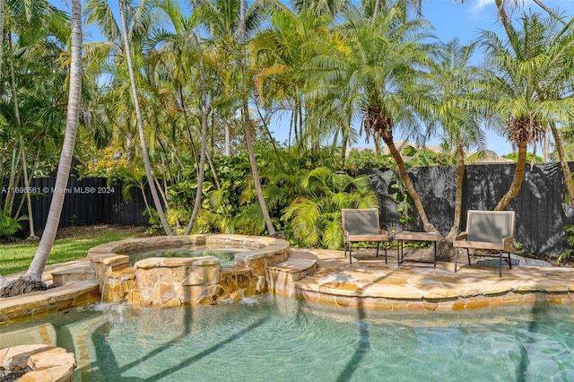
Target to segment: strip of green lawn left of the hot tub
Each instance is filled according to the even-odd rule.
[[[59,234],[59,232],[58,232]],[[109,241],[134,239],[147,236],[143,230],[90,230],[76,231],[72,236],[56,239],[48,257],[47,265],[64,263],[88,255],[88,249]],[[69,236],[69,237],[67,237]],[[2,244],[0,249],[0,274],[9,276],[26,271],[36,254],[39,243]]]

